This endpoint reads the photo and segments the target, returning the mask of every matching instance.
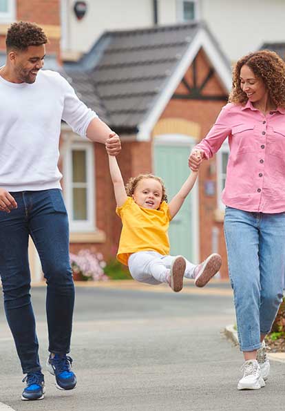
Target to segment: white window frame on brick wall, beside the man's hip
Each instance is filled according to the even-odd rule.
[[[96,207],[95,207],[95,160],[94,160],[94,144],[89,142],[89,140],[83,140],[82,137],[73,135],[70,138],[68,136],[63,136],[63,149],[61,150],[63,157],[63,196],[65,199],[65,205],[67,208],[67,213],[70,220],[70,232],[91,232],[95,231],[95,221],[96,221]],[[80,140],[79,140],[80,139]],[[86,178],[87,178],[87,220],[73,220],[73,197],[72,197],[72,151],[73,150],[83,150],[86,153]]]

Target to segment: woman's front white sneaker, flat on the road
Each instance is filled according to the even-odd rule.
[[[257,360],[246,361],[240,370],[244,372],[244,376],[237,384],[237,390],[259,390],[265,387]]]

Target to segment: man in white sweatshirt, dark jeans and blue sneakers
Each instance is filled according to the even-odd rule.
[[[29,235],[47,283],[47,368],[57,388],[72,390],[76,385],[72,359],[66,355],[74,283],[57,168],[61,120],[76,133],[105,144],[109,154],[120,151],[118,136],[76,97],[70,84],[59,73],[41,70],[46,43],[39,26],[13,23],[6,36],[6,64],[0,68],[0,275],[6,317],[26,374],[23,400],[43,399],[44,394],[30,302]]]

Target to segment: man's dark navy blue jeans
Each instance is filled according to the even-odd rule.
[[[50,352],[70,351],[74,283],[69,228],[61,190],[10,192],[18,208],[0,212],[0,275],[4,307],[23,373],[41,370],[30,301],[28,238],[32,236],[47,283],[46,311]]]

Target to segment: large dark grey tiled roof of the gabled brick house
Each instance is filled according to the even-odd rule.
[[[83,102],[109,126],[134,131],[201,28],[207,30],[195,22],[106,32],[78,63],[64,68]]]

